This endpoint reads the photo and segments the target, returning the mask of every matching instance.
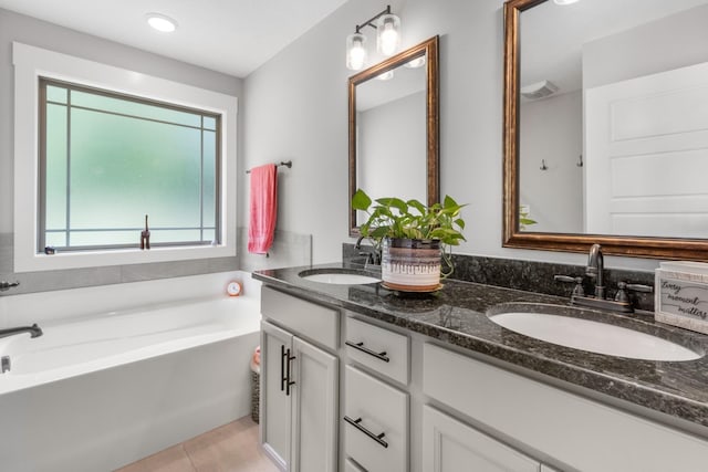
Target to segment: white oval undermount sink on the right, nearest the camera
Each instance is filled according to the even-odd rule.
[[[680,344],[607,323],[539,312],[488,314],[493,323],[524,336],[574,349],[645,360],[695,360],[699,353]]]

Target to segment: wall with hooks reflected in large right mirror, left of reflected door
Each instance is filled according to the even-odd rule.
[[[582,116],[580,91],[521,104],[520,200],[538,222],[528,231],[583,232]]]

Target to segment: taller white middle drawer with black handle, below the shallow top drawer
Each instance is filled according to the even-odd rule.
[[[368,472],[405,472],[408,394],[346,366],[345,397],[342,421],[346,455]]]

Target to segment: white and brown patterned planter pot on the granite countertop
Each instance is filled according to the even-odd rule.
[[[382,248],[382,279],[387,289],[433,292],[440,287],[438,240],[386,238]]]

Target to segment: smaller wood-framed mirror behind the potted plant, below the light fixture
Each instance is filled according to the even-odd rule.
[[[348,202],[358,188],[372,199],[439,200],[438,43],[430,38],[350,77]],[[348,208],[356,237],[365,220]]]

